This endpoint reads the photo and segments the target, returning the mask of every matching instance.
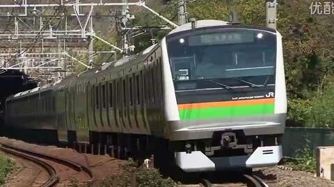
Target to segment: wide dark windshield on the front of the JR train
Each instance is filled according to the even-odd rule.
[[[205,30],[169,37],[167,48],[173,79],[181,83],[177,89],[274,84],[273,33],[246,28]]]

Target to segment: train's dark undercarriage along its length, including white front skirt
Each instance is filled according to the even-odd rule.
[[[154,136],[90,132],[90,142],[78,143],[76,132],[69,131],[68,142],[58,142],[56,130],[22,130],[2,127],[9,135],[43,145],[74,148],[89,154],[109,154],[119,159],[134,158],[138,163],[154,157],[154,165],[171,164],[185,172],[244,170],[273,166],[282,158],[282,134],[245,136],[242,130],[214,132],[212,139],[167,141]],[[175,168],[174,168],[175,169]]]

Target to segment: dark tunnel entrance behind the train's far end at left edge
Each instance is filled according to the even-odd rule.
[[[3,125],[3,101],[6,97],[37,87],[37,82],[18,70],[0,69],[0,125]]]

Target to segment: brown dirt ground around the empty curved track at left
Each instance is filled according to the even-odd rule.
[[[69,159],[84,166],[88,166],[93,171],[94,175],[93,184],[91,186],[100,186],[104,179],[110,179],[113,176],[116,176],[122,170],[122,163],[124,163],[124,161],[111,158],[108,155],[80,154],[79,152],[70,148],[35,145],[3,137],[0,138],[0,143],[14,145],[15,147],[24,148],[26,150],[32,150],[35,152],[51,154],[57,157]],[[10,157],[15,159],[18,169],[16,172],[13,172],[10,177],[8,177],[6,186],[21,187],[22,184],[26,184],[25,186],[34,186],[34,184],[40,184],[41,177],[36,177],[36,175],[42,172],[42,168],[35,166],[34,163],[20,159],[19,157],[14,157],[12,155],[10,155]],[[58,184],[58,186],[68,186],[73,179],[79,181],[81,184],[85,183],[89,179],[88,176],[83,177],[81,176],[82,173],[79,174],[78,172],[67,169],[63,166],[56,166],[56,168],[58,168],[58,173],[61,177],[61,182]],[[36,179],[38,179],[38,181],[36,181]],[[29,183],[17,183],[17,181],[29,181]]]

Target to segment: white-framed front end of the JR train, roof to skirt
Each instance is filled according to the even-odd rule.
[[[173,30],[161,49],[165,136],[177,166],[199,172],[280,161],[287,111],[280,33],[203,20]]]

